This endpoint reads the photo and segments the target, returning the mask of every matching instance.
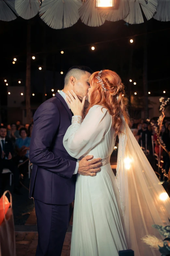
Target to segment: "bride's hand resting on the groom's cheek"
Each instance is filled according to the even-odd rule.
[[[83,97],[83,100],[81,102],[79,100],[78,96],[72,90],[71,92],[68,91],[68,94],[66,94],[66,101],[67,101],[68,105],[70,106],[70,109],[74,115],[82,116],[82,113],[84,110],[84,104],[86,101],[86,96]]]

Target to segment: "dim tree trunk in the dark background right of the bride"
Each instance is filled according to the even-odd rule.
[[[144,118],[148,118],[148,54],[147,54],[147,24],[144,36],[144,57],[143,57],[143,91],[144,91]]]

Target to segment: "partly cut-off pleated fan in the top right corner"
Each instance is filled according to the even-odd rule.
[[[170,21],[170,0],[158,0],[158,8],[153,18],[158,21]]]

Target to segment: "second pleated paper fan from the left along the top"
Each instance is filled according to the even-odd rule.
[[[15,0],[15,9],[25,20],[33,18],[38,13],[39,5],[38,0]]]

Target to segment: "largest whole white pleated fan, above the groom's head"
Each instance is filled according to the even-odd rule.
[[[41,19],[54,29],[73,26],[80,18],[81,0],[44,0],[39,9]]]

